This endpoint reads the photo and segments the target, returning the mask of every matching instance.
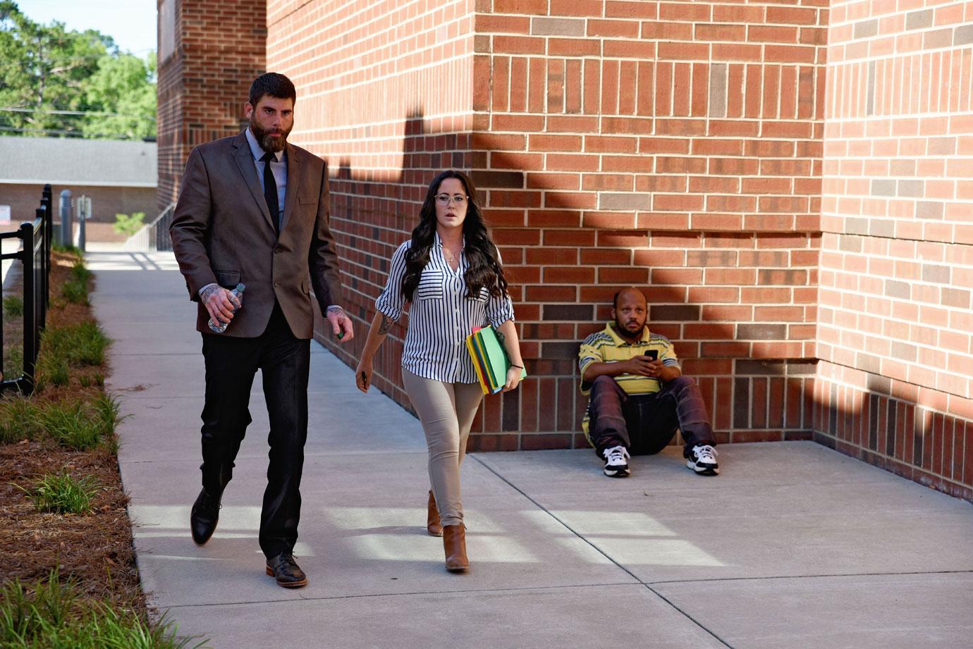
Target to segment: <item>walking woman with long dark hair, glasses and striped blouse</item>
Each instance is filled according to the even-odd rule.
[[[429,449],[426,529],[442,536],[446,567],[469,568],[459,465],[473,417],[483,400],[465,340],[474,327],[493,325],[510,357],[503,391],[521,380],[523,358],[500,254],[490,240],[476,189],[461,171],[447,170],[429,185],[412,238],[392,255],[388,281],[361,362],[358,389],[368,391],[372,360],[392,323],[411,303],[402,353],[402,379],[422,422]]]

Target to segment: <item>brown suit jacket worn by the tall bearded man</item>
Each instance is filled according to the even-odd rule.
[[[284,228],[274,234],[263,183],[245,132],[200,144],[189,156],[169,234],[190,299],[216,282],[246,284],[243,308],[224,336],[264,333],[274,301],[294,336],[313,336],[309,286],[323,313],[342,299],[335,239],[328,225],[328,168],[300,147],[286,145]],[[209,313],[198,305],[197,330],[209,333]]]

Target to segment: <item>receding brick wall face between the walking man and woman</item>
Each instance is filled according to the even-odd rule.
[[[472,2],[270,2],[268,66],[298,88],[291,141],[324,158],[357,363],[387,260],[409,237],[433,176],[468,168],[472,129]],[[376,357],[378,389],[404,406],[405,323]],[[323,341],[327,343],[326,341]]]

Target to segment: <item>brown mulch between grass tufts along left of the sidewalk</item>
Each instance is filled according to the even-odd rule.
[[[53,261],[48,327],[93,320],[90,306],[70,304],[58,297],[61,284],[70,278],[75,258],[55,252]],[[108,368],[102,365],[72,370],[67,385],[47,386],[33,398],[90,398],[102,388],[83,387],[79,377],[96,374],[107,376]],[[45,473],[61,471],[76,478],[90,476],[97,482],[100,489],[92,499],[90,514],[38,513],[28,496],[14,487],[32,487]],[[110,451],[69,451],[50,440],[0,445],[0,579],[34,583],[56,568],[62,581],[75,581],[84,593],[144,612],[127,502],[118,458]]]

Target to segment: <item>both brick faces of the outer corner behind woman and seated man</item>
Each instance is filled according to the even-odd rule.
[[[338,176],[363,329],[424,184],[455,165],[481,187],[534,380],[486,400],[474,447],[579,443],[577,343],[627,284],[721,441],[810,436],[819,4],[270,4],[269,66],[302,93],[292,138]],[[377,385],[407,403],[402,335]]]

